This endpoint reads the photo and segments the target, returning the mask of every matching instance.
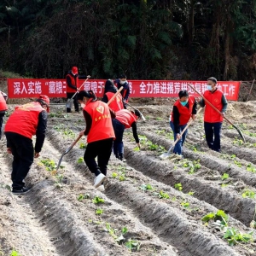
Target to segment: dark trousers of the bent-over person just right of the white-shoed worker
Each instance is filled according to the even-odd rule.
[[[120,154],[124,154],[123,136],[125,131],[125,125],[119,122],[118,119],[112,119],[113,131],[115,140],[113,141],[113,154],[119,157]]]

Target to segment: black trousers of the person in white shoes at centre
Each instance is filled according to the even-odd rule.
[[[108,160],[112,152],[113,138],[88,143],[84,152],[84,162],[90,172],[107,175]],[[98,163],[95,158],[97,157]]]

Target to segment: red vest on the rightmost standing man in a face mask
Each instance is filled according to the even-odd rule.
[[[210,90],[206,90],[204,93],[204,97],[208,102],[212,103],[212,105],[217,108],[219,111],[222,110],[223,104],[221,102],[223,96],[223,92],[221,90],[215,90],[213,93]],[[213,109],[207,102],[204,121],[207,123],[218,123],[223,121],[223,116],[219,114],[215,109]]]

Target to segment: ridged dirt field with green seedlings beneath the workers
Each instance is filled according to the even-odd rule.
[[[0,255],[256,255],[254,103],[232,102],[227,113],[247,143],[224,122],[222,153],[212,152],[201,113],[189,128],[183,160],[159,157],[173,141],[171,104],[141,104],[147,119],[138,123],[142,148],[137,150],[126,131],[127,161],[111,157],[105,192],[93,188],[94,177],[81,160],[85,137],[64,156],[60,172],[51,174],[84,129],[82,113],[67,114],[63,105],[53,105],[26,195],[9,192],[12,158],[5,153],[5,138],[0,142]],[[211,212],[214,219],[202,221]]]

